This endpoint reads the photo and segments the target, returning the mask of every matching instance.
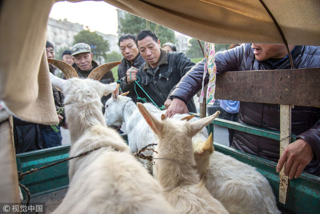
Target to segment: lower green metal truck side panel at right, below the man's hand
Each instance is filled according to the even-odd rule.
[[[276,162],[220,143],[214,142],[214,146],[216,151],[256,167],[268,179],[277,201],[279,200],[279,173],[276,171]],[[299,178],[292,179],[287,203],[278,203],[278,207],[283,213],[320,213],[320,177],[304,172]]]

